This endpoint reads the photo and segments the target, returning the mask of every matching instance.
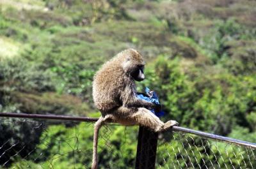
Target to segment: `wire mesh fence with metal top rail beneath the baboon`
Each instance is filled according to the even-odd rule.
[[[95,121],[97,118],[0,113],[0,168],[90,168]],[[136,132],[136,126],[117,124],[100,129],[99,168],[134,168]],[[256,166],[255,143],[181,127],[158,135],[157,152],[150,139],[154,138],[143,140],[147,147],[138,149],[152,149],[148,156],[156,153],[156,162],[148,168]],[[136,163],[148,163],[139,159]]]

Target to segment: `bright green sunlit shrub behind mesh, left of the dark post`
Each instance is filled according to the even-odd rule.
[[[100,135],[105,139],[101,137],[99,139],[99,147],[102,147],[102,149],[99,149],[99,167],[133,168],[136,156],[136,142],[134,142],[137,133],[136,127],[125,129],[124,126],[108,126],[108,128],[113,131],[109,140],[106,140],[109,129],[100,129]],[[54,166],[54,168],[65,168],[67,166],[84,168],[84,165],[89,167],[92,162],[92,138],[93,125],[85,122],[73,128],[67,128],[64,125],[52,125],[42,133],[40,144],[37,145],[36,152],[31,154],[30,158],[36,159],[36,163],[47,168],[52,156],[65,154],[65,156],[54,159],[51,166]],[[111,145],[111,148],[106,144]],[[39,154],[41,155],[39,156]],[[29,161],[28,164],[30,165]],[[12,166],[19,165],[20,161],[17,161]]]

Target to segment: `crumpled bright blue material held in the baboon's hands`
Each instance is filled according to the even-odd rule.
[[[144,96],[143,94],[137,94],[137,98],[144,99],[145,101],[155,103],[156,105],[160,105],[159,99],[156,95],[156,92],[150,91],[148,87],[145,88],[145,92],[147,93],[147,96]],[[157,117],[161,117],[164,115],[164,112],[155,112],[155,110],[150,110],[152,113],[154,113]]]

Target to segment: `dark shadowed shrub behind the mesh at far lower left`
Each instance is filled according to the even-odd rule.
[[[4,118],[0,121],[0,132],[2,133],[0,135],[0,143],[2,145],[0,149],[0,165],[10,166],[15,161],[14,158],[11,158],[12,156],[24,158],[35,149],[36,144],[39,142],[42,128],[35,128],[33,123],[17,122],[13,118]],[[24,143],[27,143],[26,149]]]

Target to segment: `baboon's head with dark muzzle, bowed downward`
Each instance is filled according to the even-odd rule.
[[[145,62],[142,55],[136,50],[129,48],[124,50],[123,55],[124,62],[122,64],[124,71],[129,77],[132,77],[136,81],[142,81],[145,79],[143,73]]]

